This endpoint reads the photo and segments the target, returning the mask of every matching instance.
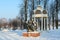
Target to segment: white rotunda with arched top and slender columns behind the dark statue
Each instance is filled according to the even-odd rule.
[[[34,22],[37,23],[37,28],[40,28],[40,30],[47,30],[48,14],[46,10],[44,10],[40,5],[38,5],[37,9],[34,10],[34,14],[32,16]]]

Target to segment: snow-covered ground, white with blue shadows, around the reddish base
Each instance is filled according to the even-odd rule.
[[[60,40],[60,28],[40,31],[39,37],[23,37],[23,32],[26,32],[26,30],[0,31],[0,40]]]

